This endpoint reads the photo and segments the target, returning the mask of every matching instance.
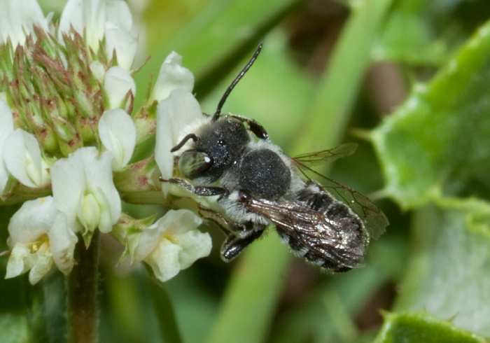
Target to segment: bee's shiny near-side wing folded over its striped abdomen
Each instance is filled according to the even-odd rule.
[[[320,258],[323,262],[319,265],[345,271],[363,260],[367,239],[361,237],[362,232],[344,230],[341,223],[321,211],[294,202],[279,204],[256,198],[248,202],[247,208],[274,223],[279,235],[283,232],[289,239],[291,248],[311,262],[319,264],[315,259]]]

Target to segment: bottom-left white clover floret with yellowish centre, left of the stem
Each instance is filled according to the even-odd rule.
[[[78,238],[52,197],[25,202],[10,219],[8,233],[12,252],[6,279],[30,270],[29,282],[34,285],[50,271],[53,262],[64,274],[71,272]]]

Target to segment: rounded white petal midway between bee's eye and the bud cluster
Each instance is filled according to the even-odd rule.
[[[99,120],[99,137],[114,156],[113,169],[120,170],[130,162],[136,144],[136,127],[125,111],[105,111]]]

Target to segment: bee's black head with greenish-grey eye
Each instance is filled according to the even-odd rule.
[[[212,183],[232,166],[250,137],[243,123],[221,116],[188,134],[172,151],[178,151],[186,141],[193,139],[188,150],[179,155],[179,172],[190,180]]]

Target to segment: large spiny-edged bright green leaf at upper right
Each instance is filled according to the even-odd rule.
[[[386,193],[402,207],[454,195],[490,169],[490,22],[372,132]]]

